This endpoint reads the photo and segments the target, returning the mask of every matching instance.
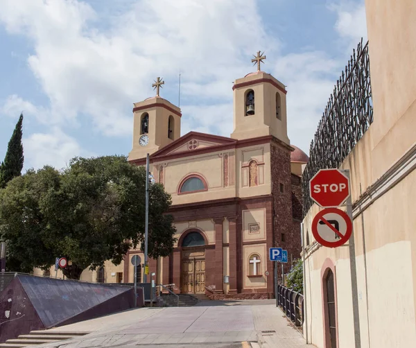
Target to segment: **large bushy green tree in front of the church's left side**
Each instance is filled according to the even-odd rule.
[[[64,275],[79,279],[87,267],[95,269],[106,260],[117,265],[130,247],[144,247],[145,172],[123,156],[107,156],[75,158],[62,173],[45,167],[12,180],[0,190],[0,233],[15,263],[49,268],[55,257],[65,256],[72,264]],[[21,195],[30,198],[30,209],[20,202]],[[175,242],[173,218],[166,214],[171,196],[159,184],[150,186],[149,195],[149,256],[168,256]],[[10,207],[15,207],[13,218]],[[37,220],[22,229],[28,209]],[[33,244],[25,243],[28,237],[21,230]]]

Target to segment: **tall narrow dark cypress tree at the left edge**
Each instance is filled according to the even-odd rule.
[[[21,143],[23,114],[20,114],[19,121],[16,123],[15,130],[8,143],[6,157],[0,164],[0,188],[12,180],[13,177],[21,175],[23,169],[23,145]]]

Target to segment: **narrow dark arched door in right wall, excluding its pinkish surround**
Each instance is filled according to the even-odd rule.
[[[326,270],[322,280],[324,283],[325,348],[337,348],[335,281],[331,269]]]

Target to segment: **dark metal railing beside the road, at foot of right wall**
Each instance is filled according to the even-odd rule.
[[[302,327],[304,320],[304,300],[301,293],[293,289],[277,286],[277,305],[281,307],[286,317],[297,327]]]

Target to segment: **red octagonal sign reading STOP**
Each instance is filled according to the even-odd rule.
[[[349,197],[349,180],[338,169],[321,169],[309,182],[309,194],[321,207],[339,207]]]

